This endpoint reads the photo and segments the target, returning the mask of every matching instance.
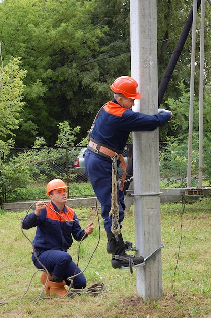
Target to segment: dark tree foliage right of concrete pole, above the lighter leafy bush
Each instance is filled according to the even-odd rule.
[[[187,17],[193,6],[193,1],[161,0],[157,4],[158,16],[158,85],[168,65],[170,56],[177,44],[180,34],[183,30]],[[205,38],[204,38],[204,84],[205,87],[210,84],[210,1],[205,2]],[[163,102],[168,97],[177,99],[180,97],[180,83],[184,83],[186,88],[190,86],[191,71],[191,41],[192,29],[186,40],[177,66],[175,67],[171,80],[168,84]],[[199,58],[200,58],[200,7],[197,13],[197,31],[196,31],[196,65],[195,65],[195,94],[199,94]]]

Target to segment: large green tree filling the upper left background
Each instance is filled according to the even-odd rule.
[[[43,136],[52,145],[58,122],[72,124],[77,114],[74,101],[78,104],[83,93],[81,64],[91,50],[96,54],[99,49],[103,29],[91,24],[94,2],[7,0],[0,5],[3,58],[21,56],[28,71],[24,118],[16,142],[21,139],[23,146],[30,146],[35,136]],[[82,109],[85,114],[86,107]]]

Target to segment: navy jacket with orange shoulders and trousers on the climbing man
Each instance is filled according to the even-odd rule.
[[[116,149],[116,152],[121,152],[127,143],[130,132],[153,131],[158,127],[164,126],[170,118],[170,112],[145,115],[123,108],[115,99],[112,99],[112,101],[104,105],[98,114],[91,132],[91,138],[96,143]],[[112,160],[87,149],[85,170],[101,204],[101,215],[104,219],[105,231],[112,233],[112,218],[109,217],[112,192]],[[119,185],[118,204],[119,224],[121,227],[121,222],[124,219],[125,204],[124,193],[119,190]]]

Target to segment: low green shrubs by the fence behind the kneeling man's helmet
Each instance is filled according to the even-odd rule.
[[[5,156],[4,163],[1,162],[0,188],[11,193],[10,198],[21,193],[21,198],[24,198],[26,194],[23,189],[29,188],[32,184],[42,184],[54,178],[66,180],[65,147],[72,147],[68,151],[68,160],[73,162],[77,155],[73,146],[78,132],[79,127],[72,129],[67,122],[62,122],[59,123],[55,147],[48,148],[44,138],[37,138],[29,149],[10,151],[10,154]],[[74,175],[69,175],[68,179],[71,178],[74,178]]]

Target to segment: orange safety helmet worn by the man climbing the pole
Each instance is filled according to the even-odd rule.
[[[142,98],[142,95],[138,92],[138,83],[130,76],[118,77],[110,88],[114,93],[121,93],[134,100]]]

